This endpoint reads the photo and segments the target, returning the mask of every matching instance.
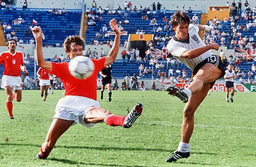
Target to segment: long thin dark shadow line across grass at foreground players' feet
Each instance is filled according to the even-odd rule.
[[[0,143],[0,145],[17,145],[17,146],[32,146],[32,147],[41,147],[41,145],[33,145],[33,144],[18,144],[18,143]],[[90,147],[90,146],[62,146],[55,145],[54,148],[67,148],[67,149],[94,149],[100,151],[106,150],[114,150],[114,151],[158,151],[158,152],[168,152],[172,153],[174,150],[167,149],[147,149],[147,148],[130,148],[130,147]],[[217,153],[207,153],[207,152],[192,152],[192,154],[207,154],[207,155],[218,155]]]

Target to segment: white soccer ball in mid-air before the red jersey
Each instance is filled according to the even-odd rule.
[[[70,74],[75,78],[85,79],[92,75],[94,63],[87,57],[76,56],[70,61],[68,69]]]

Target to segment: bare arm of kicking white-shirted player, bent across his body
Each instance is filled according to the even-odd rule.
[[[210,45],[202,46],[200,48],[195,48],[192,50],[185,50],[180,57],[187,58],[187,59],[197,58],[201,54],[203,54],[211,49],[219,50],[219,45],[218,44],[210,44]]]

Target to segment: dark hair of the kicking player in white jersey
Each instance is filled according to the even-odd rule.
[[[171,25],[172,25],[172,30],[173,27],[178,26],[178,24],[189,24],[190,23],[190,18],[185,12],[179,12],[177,11],[171,19]]]

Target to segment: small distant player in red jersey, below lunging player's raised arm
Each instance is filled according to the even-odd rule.
[[[48,89],[50,87],[50,78],[49,78],[49,72],[47,70],[44,70],[43,68],[39,68],[36,75],[40,78],[39,85],[41,90],[41,97],[44,96],[44,101],[46,100],[46,97],[48,95]],[[45,91],[45,93],[44,93]]]

